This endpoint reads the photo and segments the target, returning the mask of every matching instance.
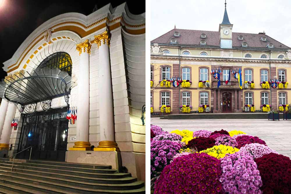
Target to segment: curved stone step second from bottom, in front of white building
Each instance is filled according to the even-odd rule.
[[[127,184],[100,184],[100,183],[87,183],[84,181],[74,181],[70,179],[54,178],[45,175],[33,174],[19,174],[16,172],[0,172],[0,177],[5,179],[13,179],[24,181],[28,184],[38,184],[43,186],[51,186],[54,188],[64,189],[66,191],[80,190],[80,191],[95,191],[95,190],[130,190],[138,189],[144,186],[143,181],[135,181]],[[83,192],[81,192],[83,193]]]

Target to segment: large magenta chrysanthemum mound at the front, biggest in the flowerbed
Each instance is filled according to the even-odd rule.
[[[173,160],[155,182],[155,194],[213,193],[221,191],[220,161],[207,154],[188,154]]]

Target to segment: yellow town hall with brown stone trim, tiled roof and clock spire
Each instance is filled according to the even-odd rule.
[[[242,112],[248,104],[256,110],[263,104],[277,110],[279,105],[291,103],[290,54],[290,47],[265,33],[233,32],[225,6],[219,31],[175,28],[151,41],[153,113],[162,114],[162,105],[170,106],[174,114],[181,113],[182,105],[192,106],[191,111],[209,105],[213,113]],[[237,79],[239,70],[242,89]],[[229,71],[230,82],[226,83]],[[181,82],[175,87],[173,81],[178,78]],[[266,82],[271,82],[269,87]]]

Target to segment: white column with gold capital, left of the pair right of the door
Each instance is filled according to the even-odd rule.
[[[89,143],[89,55],[91,44],[87,39],[77,44],[76,49],[79,51],[80,55],[77,90],[77,141],[74,147],[69,150],[91,150],[91,145]]]

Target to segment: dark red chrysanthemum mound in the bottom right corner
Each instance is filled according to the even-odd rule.
[[[291,193],[291,160],[281,154],[269,153],[255,159],[263,181],[264,194]]]

